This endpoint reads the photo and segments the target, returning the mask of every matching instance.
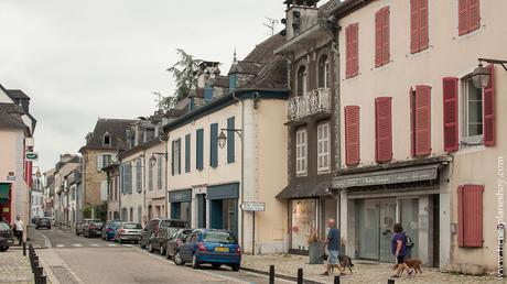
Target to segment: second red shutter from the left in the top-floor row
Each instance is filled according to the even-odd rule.
[[[389,7],[375,13],[375,67],[389,63]]]

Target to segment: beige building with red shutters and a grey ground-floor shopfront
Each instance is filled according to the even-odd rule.
[[[392,225],[416,241],[412,256],[497,267],[507,72],[501,0],[355,1],[334,12],[338,34],[341,227],[346,253],[391,261]],[[504,142],[503,142],[504,141]]]

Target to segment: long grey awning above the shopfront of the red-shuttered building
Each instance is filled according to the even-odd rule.
[[[341,175],[333,178],[333,187],[347,188],[431,181],[438,177],[440,166],[439,163]]]

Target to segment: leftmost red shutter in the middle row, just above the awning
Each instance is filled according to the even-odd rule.
[[[345,107],[345,163],[357,165],[360,161],[359,107]]]

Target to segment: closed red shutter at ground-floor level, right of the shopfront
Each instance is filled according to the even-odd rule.
[[[457,243],[460,247],[483,247],[482,185],[462,185],[457,188]]]

